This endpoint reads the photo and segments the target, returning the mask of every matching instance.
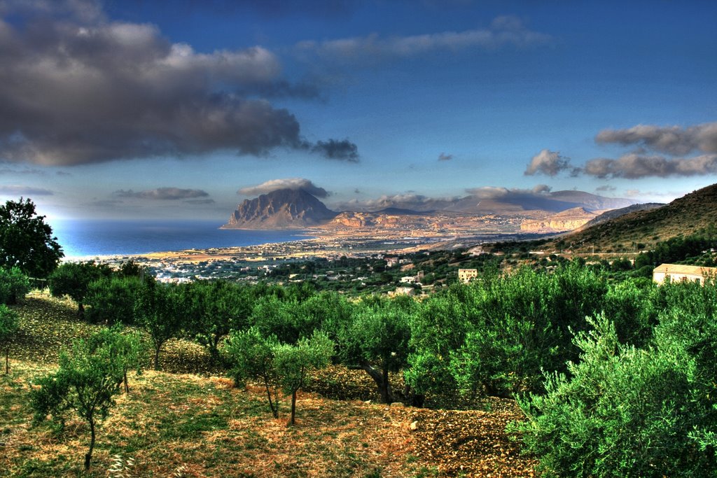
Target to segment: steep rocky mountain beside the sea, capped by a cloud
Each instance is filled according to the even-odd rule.
[[[336,213],[301,189],[279,189],[246,199],[223,229],[301,229],[331,221]]]

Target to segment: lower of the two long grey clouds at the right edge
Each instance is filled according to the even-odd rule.
[[[717,174],[717,154],[705,154],[694,158],[665,158],[629,153],[619,159],[591,159],[585,163],[583,171],[597,178],[704,176]]]

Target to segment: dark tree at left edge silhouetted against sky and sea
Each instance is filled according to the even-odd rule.
[[[19,269],[30,277],[49,275],[65,255],[45,216],[38,216],[30,199],[0,206],[0,267]]]

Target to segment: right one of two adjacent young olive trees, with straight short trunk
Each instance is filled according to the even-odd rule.
[[[311,338],[302,338],[295,345],[279,344],[273,347],[274,369],[285,393],[291,394],[291,418],[296,416],[296,393],[302,388],[310,371],[324,368],[331,361],[333,342],[323,332]]]

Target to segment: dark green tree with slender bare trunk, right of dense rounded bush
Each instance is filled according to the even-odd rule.
[[[137,324],[149,334],[154,348],[154,369],[159,370],[159,353],[184,327],[186,296],[179,286],[144,282],[135,305]]]

